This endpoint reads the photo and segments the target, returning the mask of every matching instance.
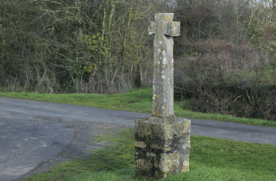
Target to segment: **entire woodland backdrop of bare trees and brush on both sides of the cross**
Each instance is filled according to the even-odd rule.
[[[2,0],[6,91],[116,93],[152,84],[154,13],[181,22],[175,95],[202,112],[276,120],[275,0]]]

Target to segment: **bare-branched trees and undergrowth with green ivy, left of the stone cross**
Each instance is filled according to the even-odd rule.
[[[0,86],[116,93],[152,82],[144,1],[0,1]]]

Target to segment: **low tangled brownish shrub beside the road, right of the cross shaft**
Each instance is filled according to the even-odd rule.
[[[193,111],[276,120],[276,74],[264,55],[223,41],[199,43],[176,60],[175,92]]]

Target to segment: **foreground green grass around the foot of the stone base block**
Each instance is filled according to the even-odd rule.
[[[106,135],[106,148],[23,180],[135,180],[134,131]],[[142,178],[141,180],[147,180]],[[191,136],[190,172],[160,180],[276,180],[276,146]]]

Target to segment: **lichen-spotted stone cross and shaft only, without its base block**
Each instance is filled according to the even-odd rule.
[[[171,118],[174,117],[173,36],[180,35],[180,22],[173,22],[173,13],[157,13],[148,34],[155,34],[152,116]]]

